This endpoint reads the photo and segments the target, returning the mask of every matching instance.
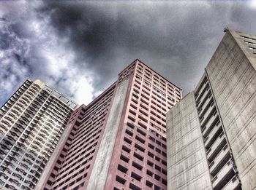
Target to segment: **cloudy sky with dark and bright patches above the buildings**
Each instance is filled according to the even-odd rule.
[[[0,1],[0,106],[26,79],[87,105],[136,58],[186,95],[225,27],[256,34],[256,1]]]

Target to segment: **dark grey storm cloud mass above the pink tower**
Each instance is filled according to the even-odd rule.
[[[94,72],[97,90],[105,89],[118,71],[139,58],[186,93],[203,73],[223,28],[234,25],[246,31],[255,20],[244,19],[256,16],[246,4],[231,1],[64,1],[46,3],[41,11],[50,12],[56,33],[69,39],[77,63]]]

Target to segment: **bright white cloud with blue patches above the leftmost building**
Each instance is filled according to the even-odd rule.
[[[16,6],[4,4],[4,13],[0,16],[7,18],[0,20],[0,30],[7,35],[9,47],[6,50],[0,49],[1,101],[7,100],[18,88],[18,84],[31,78],[41,79],[59,92],[73,95],[73,100],[79,104],[88,104],[94,91],[90,74],[81,72],[78,64],[74,63],[74,52],[65,47],[64,40],[56,36],[49,18],[38,17],[34,11],[37,5],[29,5],[27,1],[20,2],[20,9],[30,7],[27,9],[29,12],[19,11],[13,19],[8,14],[12,15],[10,10]],[[2,9],[0,8],[0,12]],[[21,34],[13,29],[14,25],[21,27],[18,28]],[[20,60],[26,60],[26,63],[19,63],[15,54],[20,55]]]

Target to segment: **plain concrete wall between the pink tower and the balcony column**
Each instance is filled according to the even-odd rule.
[[[211,189],[192,92],[167,113],[167,188]]]

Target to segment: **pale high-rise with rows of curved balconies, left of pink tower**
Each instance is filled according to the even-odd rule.
[[[34,189],[78,106],[27,80],[0,109],[0,189]]]

